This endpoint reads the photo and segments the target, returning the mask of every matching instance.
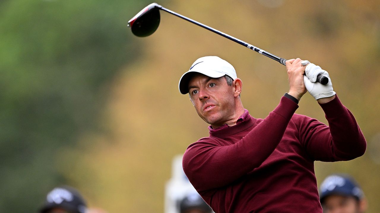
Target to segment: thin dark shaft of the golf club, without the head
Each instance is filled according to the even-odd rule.
[[[174,12],[174,11],[171,11],[171,10],[169,10],[169,9],[166,9],[166,8],[164,8],[164,7],[161,6],[161,5],[158,6],[158,8],[161,9],[161,10],[163,10],[163,11],[165,11],[165,12],[168,12],[168,13],[170,13],[170,14],[173,14],[174,16],[180,17],[181,19],[185,19],[185,20],[187,20],[187,21],[189,21],[189,22],[192,22],[192,23],[198,25],[199,27],[203,27],[203,28],[205,28],[205,29],[207,29],[207,30],[210,30],[210,31],[212,31],[212,32],[214,32],[214,33],[216,33],[216,34],[219,34],[219,35],[221,35],[221,36],[223,36],[223,37],[225,37],[225,38],[228,38],[228,39],[230,39],[231,41],[234,41],[234,42],[236,42],[236,43],[238,43],[238,44],[241,44],[241,45],[243,45],[243,46],[245,46],[245,47],[248,47],[249,49],[251,49],[251,50],[253,50],[253,51],[255,51],[255,52],[258,52],[258,53],[260,53],[260,54],[262,54],[262,55],[265,55],[265,56],[267,56],[267,57],[269,57],[269,58],[271,58],[271,59],[273,59],[273,60],[275,60],[275,61],[278,61],[279,63],[285,65],[285,61],[286,61],[286,60],[285,60],[284,58],[280,58],[279,56],[276,56],[276,55],[273,55],[272,53],[266,52],[266,51],[263,50],[263,49],[260,49],[260,48],[258,48],[258,47],[256,47],[256,46],[252,45],[252,44],[249,44],[249,43],[247,43],[247,42],[245,42],[245,41],[242,41],[242,40],[237,39],[237,38],[235,38],[235,37],[233,37],[233,36],[230,36],[229,34],[223,33],[222,31],[219,31],[219,30],[216,30],[216,29],[214,29],[214,28],[212,28],[212,27],[209,27],[209,26],[207,26],[207,25],[204,25],[203,23],[197,22],[196,20],[190,19],[190,18],[188,18],[188,17],[186,17],[186,16],[182,16],[181,14],[178,14],[178,13],[176,13],[176,12]]]

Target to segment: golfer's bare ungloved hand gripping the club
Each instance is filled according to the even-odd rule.
[[[302,66],[301,62],[302,60],[299,58],[290,59],[285,62],[290,87],[288,94],[297,100],[300,100],[307,91],[304,85],[305,66]]]

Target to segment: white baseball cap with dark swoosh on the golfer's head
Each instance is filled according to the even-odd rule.
[[[188,83],[193,72],[198,72],[211,78],[219,78],[224,75],[230,76],[233,80],[237,78],[235,68],[230,63],[218,56],[204,56],[198,58],[179,79],[178,88],[181,94],[188,93]]]

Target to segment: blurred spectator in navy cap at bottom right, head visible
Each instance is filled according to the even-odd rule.
[[[364,213],[367,201],[360,186],[347,175],[330,175],[320,187],[325,213]]]

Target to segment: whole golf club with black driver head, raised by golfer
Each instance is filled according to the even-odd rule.
[[[207,25],[204,25],[203,23],[197,22],[193,19],[190,19],[188,17],[182,16],[181,14],[175,13],[169,9],[164,8],[161,5],[158,5],[157,3],[151,3],[150,5],[146,6],[144,9],[142,9],[136,16],[134,16],[131,20],[128,21],[128,27],[131,28],[132,33],[135,36],[138,37],[146,37],[151,34],[153,34],[160,24],[160,11],[159,9],[166,11],[170,14],[173,14],[174,16],[180,17],[182,19],[185,19],[189,22],[192,22],[200,27],[203,27],[207,30],[210,30],[216,34],[219,34],[225,38],[228,38],[238,44],[241,44],[245,47],[248,47],[251,50],[254,50],[258,53],[261,53],[262,55],[265,55],[275,61],[278,61],[280,64],[285,65],[286,59],[280,58],[279,56],[273,55],[272,53],[266,52],[265,50],[262,50],[258,47],[255,47],[254,45],[251,45],[247,42],[244,42],[240,39],[237,39],[233,36],[230,36],[226,33],[223,33],[219,30],[215,30],[212,27],[209,27]],[[318,75],[317,82],[326,85],[329,82],[329,79],[323,75]]]

